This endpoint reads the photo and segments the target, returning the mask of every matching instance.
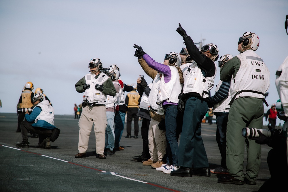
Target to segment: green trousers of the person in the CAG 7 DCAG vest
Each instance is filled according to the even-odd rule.
[[[255,182],[260,170],[261,145],[242,136],[242,129],[263,128],[263,99],[239,97],[230,107],[226,132],[226,165],[231,176]],[[246,145],[247,166],[244,176],[244,151]]]

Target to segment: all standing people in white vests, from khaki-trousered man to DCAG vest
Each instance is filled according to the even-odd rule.
[[[153,79],[151,83],[144,77],[137,79],[141,96],[137,115],[143,120],[143,152],[134,160],[172,176],[211,176],[212,172],[229,174],[219,177],[219,183],[255,185],[261,145],[243,137],[241,132],[245,127],[263,127],[264,94],[270,86],[270,73],[255,53],[259,37],[255,33],[244,33],[238,41],[240,54],[220,57],[220,81],[215,95],[211,96],[217,73],[215,61],[219,58],[217,45],[209,43],[199,50],[180,24],[176,31],[186,47],[180,53],[166,54],[163,63],[156,62],[141,46],[134,44],[134,56]],[[75,84],[76,91],[84,93],[79,119],[79,153],[75,158],[86,157],[94,125],[96,157],[106,159],[115,150],[122,150],[119,142],[127,111],[124,92],[134,88],[120,79],[117,65],[104,69],[101,60],[93,58],[88,67],[90,73]],[[216,115],[216,140],[222,157],[221,167],[215,170],[209,168],[201,137],[202,119],[209,108],[213,108]],[[246,173],[243,172],[245,146]]]

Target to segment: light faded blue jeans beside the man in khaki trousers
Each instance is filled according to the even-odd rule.
[[[115,113],[112,111],[106,111],[106,116],[107,116],[107,127],[105,131],[105,149],[114,149],[114,140],[115,140],[115,135],[114,135],[114,117]]]

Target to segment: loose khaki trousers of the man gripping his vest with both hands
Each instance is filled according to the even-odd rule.
[[[79,119],[79,153],[86,153],[88,149],[89,136],[94,123],[96,153],[103,155],[105,147],[105,130],[107,126],[106,106],[86,106],[82,109]]]

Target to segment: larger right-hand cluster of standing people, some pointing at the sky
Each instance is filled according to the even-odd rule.
[[[143,165],[172,176],[230,174],[219,177],[218,182],[255,185],[261,145],[243,137],[241,132],[245,127],[263,127],[264,94],[270,86],[270,73],[255,53],[259,37],[244,33],[238,41],[240,54],[220,57],[220,81],[215,95],[211,96],[217,73],[214,62],[219,57],[217,45],[209,43],[199,50],[180,24],[176,31],[186,47],[180,53],[166,54],[163,63],[156,62],[141,46],[134,44],[134,56],[153,79],[150,84],[143,77],[137,80],[138,90],[142,90],[139,93],[144,95],[140,116],[147,118],[143,120],[141,133],[147,130],[148,145],[144,145],[143,138],[143,153],[134,160],[142,160]],[[209,168],[201,137],[201,122],[209,108],[213,108],[217,119],[216,141],[222,157],[221,167],[214,170]],[[246,174],[243,172],[245,145]]]

